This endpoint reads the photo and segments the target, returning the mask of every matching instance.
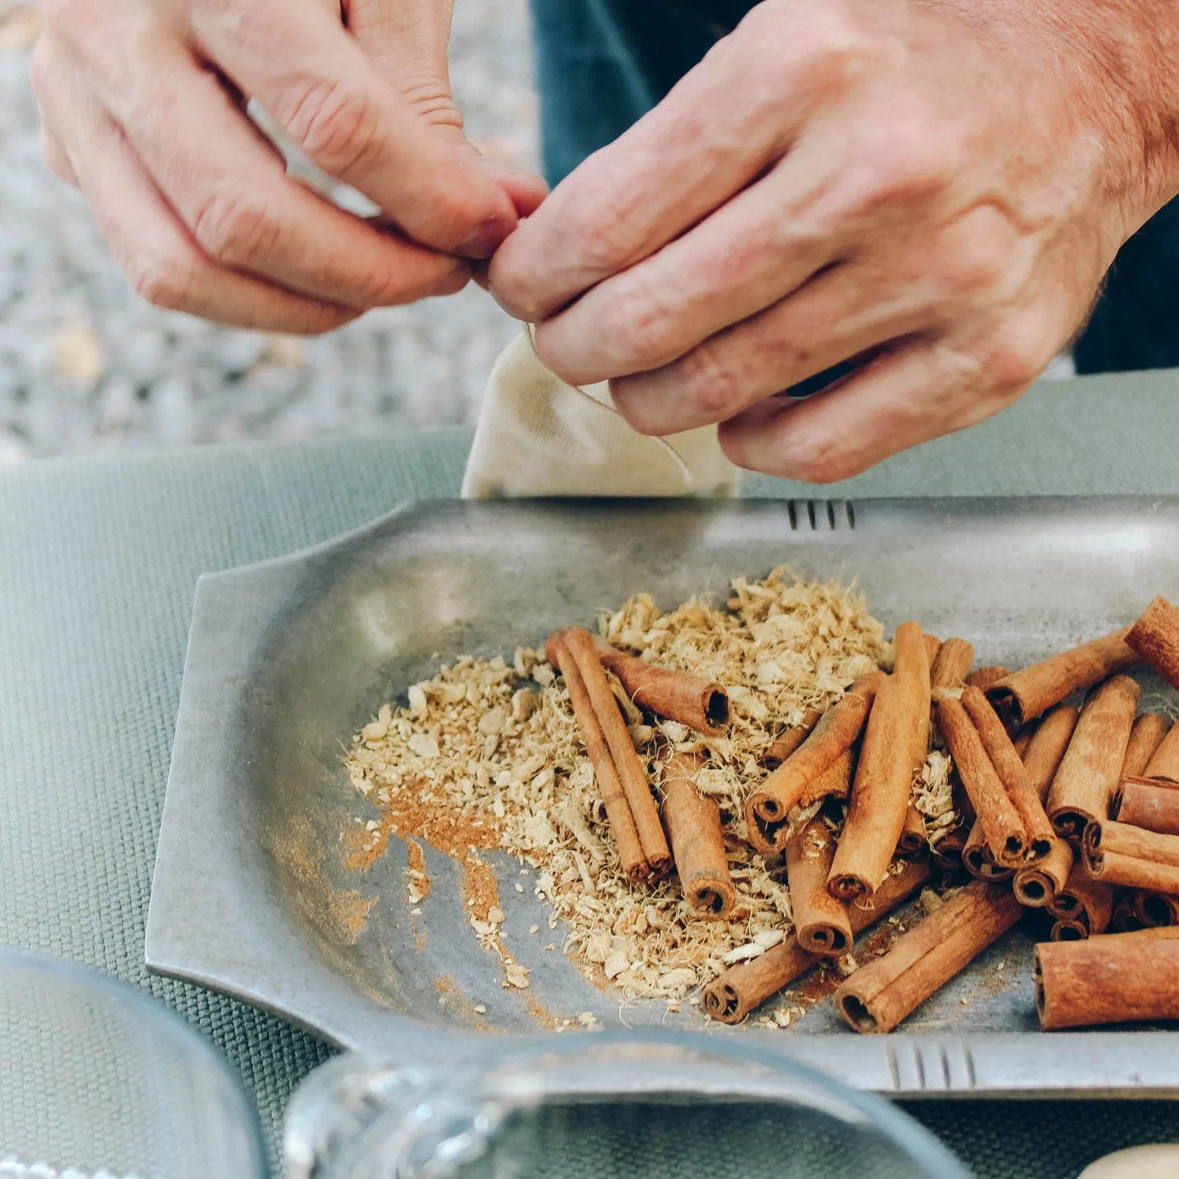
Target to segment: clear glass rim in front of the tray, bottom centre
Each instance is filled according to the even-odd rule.
[[[295,1094],[284,1148],[289,1179],[967,1179],[883,1099],[685,1033],[341,1056]]]

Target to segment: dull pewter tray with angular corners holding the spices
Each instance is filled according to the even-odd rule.
[[[446,856],[427,851],[433,885],[420,914],[403,843],[391,839],[368,871],[344,868],[342,832],[377,814],[348,780],[344,746],[383,700],[434,673],[435,652],[511,658],[637,591],[667,607],[696,593],[723,600],[730,578],[782,564],[855,579],[889,630],[916,618],[970,639],[980,664],[1021,666],[1179,593],[1179,499],[416,503],[307,552],[204,577],[149,968],[397,1055],[446,1058],[492,1030],[593,1012],[607,1026],[756,1036],[891,1094],[1179,1091],[1172,1030],[1038,1030],[1026,931],[889,1036],[848,1032],[830,999],[788,1032],[725,1028],[686,1003],[668,1015],[661,1002],[594,989],[560,951],[561,927],[548,929],[533,877],[506,855],[490,861],[508,948],[532,971],[527,990],[501,986]],[[1142,684],[1144,706],[1165,702],[1159,680]]]

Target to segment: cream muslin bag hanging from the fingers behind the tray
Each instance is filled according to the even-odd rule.
[[[525,325],[488,378],[462,496],[733,496],[737,480],[714,426],[639,434],[605,381],[578,388],[549,373]]]

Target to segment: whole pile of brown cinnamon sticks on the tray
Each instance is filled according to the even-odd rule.
[[[1034,963],[1045,1029],[1179,1019],[1179,725],[1135,716],[1139,686],[1125,674],[1145,661],[1179,687],[1179,610],[1157,599],[1133,627],[1016,672],[971,672],[968,641],[940,643],[916,623],[894,646],[890,674],[863,677],[766,752],[775,768],[749,795],[745,825],[785,874],[795,931],[714,979],[703,1009],[740,1021],[847,955],[937,874],[943,903],[836,990],[851,1028],[895,1028],[1027,910],[1053,918]],[[585,631],[554,634],[547,652],[632,882],[674,864],[696,911],[730,915],[722,817],[694,786],[706,756],[664,758],[657,804],[606,670],[635,703],[709,736],[727,719],[723,689]],[[1079,692],[1080,706],[1065,703]],[[929,850],[910,798],[931,744],[953,758],[961,822]]]

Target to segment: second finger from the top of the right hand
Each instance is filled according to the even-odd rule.
[[[809,153],[791,156],[683,237],[544,321],[541,360],[572,384],[648,373],[784,298],[850,245],[811,210],[822,166]]]

